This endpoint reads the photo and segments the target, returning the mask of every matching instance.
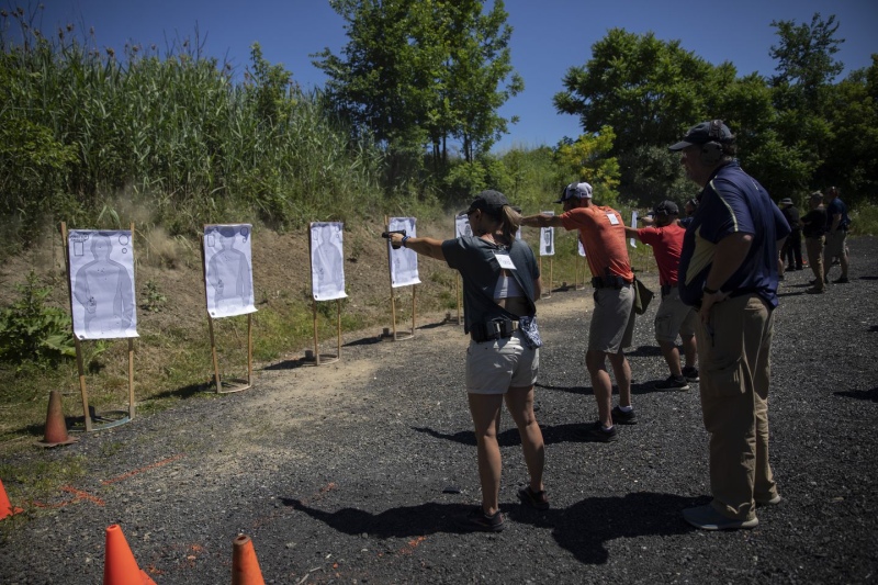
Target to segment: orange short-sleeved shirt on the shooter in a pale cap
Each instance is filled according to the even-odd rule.
[[[585,258],[593,277],[610,274],[628,282],[634,281],[631,260],[628,259],[624,222],[618,211],[589,205],[570,210],[560,217],[564,229],[579,230],[579,241],[587,252]]]

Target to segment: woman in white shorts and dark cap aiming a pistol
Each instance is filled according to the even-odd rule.
[[[465,212],[472,236],[440,241],[389,234],[394,247],[405,246],[444,260],[463,280],[466,392],[479,447],[482,505],[465,518],[471,529],[497,532],[505,526],[499,511],[500,450],[497,431],[505,400],[525,453],[530,482],[518,492],[526,505],[548,509],[542,483],[544,443],[533,414],[533,384],[541,345],[534,302],[542,282],[533,251],[516,239],[521,216],[498,191],[483,191]]]

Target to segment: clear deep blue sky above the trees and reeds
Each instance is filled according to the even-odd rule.
[[[194,37],[204,50],[228,59],[240,71],[249,63],[249,46],[259,42],[263,56],[282,64],[304,88],[323,86],[313,53],[329,47],[339,54],[347,42],[344,22],[324,0],[43,0],[43,29],[59,24],[94,27],[99,46],[121,52],[126,42],[162,48],[166,38]],[[5,5],[13,5],[7,0]],[[35,5],[35,4],[32,4]],[[870,65],[878,53],[878,2],[875,0],[738,0],[734,2],[664,2],[660,0],[506,0],[513,65],[525,79],[525,91],[500,113],[520,122],[495,150],[511,146],[554,145],[579,134],[578,120],[558,114],[552,97],[573,66],[584,65],[592,45],[612,27],[655,33],[679,40],[683,48],[718,65],[732,61],[739,75],[768,76],[768,56],[777,43],[773,20],[810,23],[814,12],[836,15],[837,36],[845,38],[836,58],[845,74]],[[698,121],[693,121],[696,123]]]

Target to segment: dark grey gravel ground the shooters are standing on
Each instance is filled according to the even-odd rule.
[[[507,414],[508,527],[455,527],[480,499],[466,338],[434,318],[413,339],[358,334],[335,364],[277,363],[248,391],[14,455],[80,454],[89,474],[3,531],[0,583],[99,583],[116,522],[159,585],[230,582],[238,533],[269,583],[874,583],[878,239],[851,251],[851,284],[820,296],[803,294],[810,271],[783,283],[769,417],[785,500],[761,508],[755,530],[702,532],[680,517],[709,500],[707,435],[697,386],[652,389],[666,376],[656,302],[629,352],[640,424],[616,443],[576,436],[596,418],[583,350],[590,290],[556,291],[538,305],[549,511],[517,504],[527,473]]]

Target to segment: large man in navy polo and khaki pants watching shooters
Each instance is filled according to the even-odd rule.
[[[721,120],[694,126],[671,146],[698,183],[698,210],[683,240],[680,297],[696,328],[713,500],[683,517],[698,528],[754,528],[757,505],[780,503],[768,464],[769,353],[777,258],[789,224],[741,169]]]

